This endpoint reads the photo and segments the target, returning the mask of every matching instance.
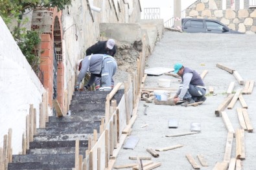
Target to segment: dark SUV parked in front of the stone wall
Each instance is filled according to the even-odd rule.
[[[197,18],[183,18],[181,20],[183,32],[189,33],[224,33],[224,34],[244,34],[242,32],[234,31],[226,27],[220,21],[213,19],[197,19]]]

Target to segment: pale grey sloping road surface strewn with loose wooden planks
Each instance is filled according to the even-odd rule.
[[[164,32],[163,38],[157,43],[154,52],[146,61],[146,69],[153,67],[172,68],[176,62],[196,70],[201,74],[208,70],[204,78],[207,89],[213,87],[215,96],[208,94],[207,100],[198,107],[181,107],[181,105],[155,105],[154,103],[139,102],[137,114],[139,115],[132,127],[131,136],[139,137],[135,149],[121,149],[115,165],[132,164],[136,160],[129,160],[129,156],[151,156],[146,148],[159,149],[173,145],[183,145],[178,149],[159,152],[159,157],[152,160],[161,162],[156,169],[193,169],[185,157],[191,154],[200,165],[201,169],[213,169],[217,162],[224,160],[227,142],[227,129],[222,117],[215,116],[215,110],[226,98],[229,84],[235,81],[234,91],[242,89],[233,74],[219,69],[216,63],[222,63],[239,72],[244,81],[256,78],[255,69],[256,36],[255,35],[224,35],[224,34],[186,34],[178,32]],[[148,76],[145,87],[157,87],[159,78],[171,80],[171,88],[178,88],[178,79],[171,76]],[[174,95],[174,93],[172,93]],[[248,105],[248,114],[253,127],[256,123],[256,90],[252,94],[243,95]],[[143,114],[148,105],[147,115]],[[238,100],[233,109],[225,109],[227,116],[233,125],[233,129],[241,129],[237,108],[242,105]],[[169,129],[170,119],[178,120],[177,129]],[[179,137],[165,137],[167,134],[180,134],[190,132],[191,123],[201,124],[202,131],[199,134]],[[141,126],[147,125],[141,128]],[[242,169],[256,169],[256,134],[245,135],[245,160],[242,160]],[[235,158],[235,138],[231,157]],[[196,155],[202,154],[207,160],[208,167],[202,167]],[[143,161],[146,162],[146,161]],[[131,168],[130,168],[131,169]]]

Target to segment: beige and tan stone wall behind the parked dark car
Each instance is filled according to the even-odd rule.
[[[186,16],[216,19],[232,30],[246,34],[256,33],[256,8],[222,10],[222,1],[198,0],[187,8]]]

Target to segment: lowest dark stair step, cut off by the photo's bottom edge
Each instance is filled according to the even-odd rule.
[[[24,162],[24,163],[9,163],[8,170],[17,169],[62,169],[62,168],[73,168],[75,167],[75,161],[69,162]]]

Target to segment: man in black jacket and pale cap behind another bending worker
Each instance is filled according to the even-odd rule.
[[[86,56],[89,56],[91,54],[107,54],[108,56],[115,56],[115,53],[117,52],[117,47],[115,45],[115,40],[108,39],[108,41],[98,41],[95,43],[95,45],[92,45],[91,47],[87,48],[86,50]],[[113,88],[113,82],[111,87]],[[95,89],[99,90],[100,88],[100,78],[96,78],[95,80]]]

